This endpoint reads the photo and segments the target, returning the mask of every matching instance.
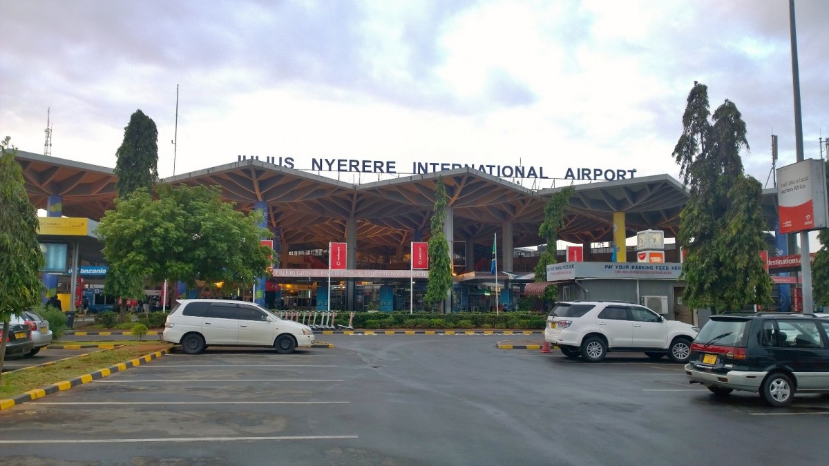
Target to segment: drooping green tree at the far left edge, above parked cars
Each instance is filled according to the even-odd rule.
[[[0,142],[0,373],[6,358],[6,336],[12,314],[41,302],[43,285],[39,271],[43,258],[37,231],[37,210],[26,194],[23,171],[14,159],[17,148],[11,138]]]

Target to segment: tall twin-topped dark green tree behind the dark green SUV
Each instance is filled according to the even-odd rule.
[[[691,308],[732,311],[771,302],[760,183],[743,171],[739,151],[749,148],[737,106],[725,100],[710,115],[708,88],[694,83],[673,157],[689,200],[677,240],[686,250],[683,298]],[[709,121],[713,121],[713,124]]]

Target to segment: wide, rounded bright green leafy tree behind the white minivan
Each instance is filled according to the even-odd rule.
[[[116,199],[98,226],[104,257],[117,272],[105,293],[143,297],[143,279],[189,286],[252,284],[271,264],[273,250],[260,238],[273,233],[259,226],[259,212],[235,211],[218,187],[156,187],[158,198],[138,189]]]

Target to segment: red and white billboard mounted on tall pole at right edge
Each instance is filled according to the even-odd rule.
[[[778,169],[780,232],[827,227],[826,167],[809,158]]]

